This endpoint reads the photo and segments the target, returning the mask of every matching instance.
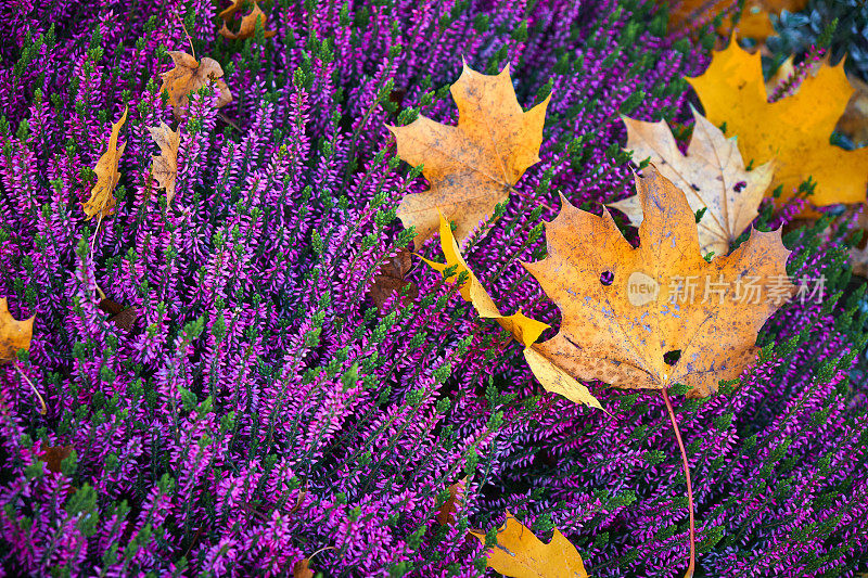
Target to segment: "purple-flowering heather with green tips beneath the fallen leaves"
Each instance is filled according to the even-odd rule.
[[[707,55],[672,44],[642,0],[259,5],[277,35],[244,41],[216,34],[212,0],[0,8],[0,295],[37,316],[17,365],[49,408],[0,371],[3,566],[284,576],[312,556],[326,576],[482,576],[467,529],[509,508],[544,538],[559,527],[595,576],[679,575],[684,476],[659,396],[591,384],[610,416],[544,393],[510,336],[424,267],[416,299],[379,311],[367,293],[412,236],[400,197],[424,187],[385,125],[455,121],[462,55],[510,63],[524,106],[553,93],[541,162],[468,260],[502,310],[556,326],[520,265],[545,254],[541,219],[559,192],[595,211],[631,194],[618,115],[686,120],[682,76]],[[158,75],[184,28],[234,101],[192,97],[166,206],[146,127],[173,121]],[[125,106],[117,213],[97,227],[80,203]],[[757,227],[794,214],[771,208]],[[769,320],[757,365],[720,395],[677,398],[698,576],[865,569],[868,306],[846,235],[831,215],[791,232],[790,271],[826,275],[825,301]],[[131,329],[98,287],[135,307]],[[43,445],[74,448],[61,473]]]

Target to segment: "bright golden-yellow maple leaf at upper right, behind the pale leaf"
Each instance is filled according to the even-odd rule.
[[[817,188],[810,201],[817,206],[865,200],[868,150],[845,151],[829,143],[853,94],[843,63],[821,67],[795,94],[769,103],[760,53],[749,54],[730,42],[714,53],[705,74],[687,80],[709,120],[726,123],[746,159],[760,164],[775,158],[770,188],[783,185],[782,198],[812,176]]]

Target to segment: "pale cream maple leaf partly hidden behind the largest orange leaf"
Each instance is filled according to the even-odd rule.
[[[735,139],[693,111],[693,137],[682,155],[665,120],[643,123],[624,117],[627,146],[634,159],[651,158],[660,174],[687,194],[693,213],[704,208],[699,222],[700,251],[729,253],[729,245],[757,216],[760,202],[771,182],[773,162],[744,169]],[[623,210],[630,222],[642,222],[639,196],[610,206]]]

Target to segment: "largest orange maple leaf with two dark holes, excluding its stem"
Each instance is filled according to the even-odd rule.
[[[561,330],[532,349],[578,380],[681,383],[689,396],[707,396],[753,363],[757,332],[793,294],[790,252],[780,231],[754,230],[731,255],[706,262],[685,194],[653,166],[636,177],[636,190],[644,216],[636,248],[608,210],[598,217],[562,197],[546,226],[548,256],[525,264],[561,309]],[[671,351],[680,351],[672,365]]]

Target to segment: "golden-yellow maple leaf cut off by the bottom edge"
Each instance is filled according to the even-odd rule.
[[[470,534],[485,544],[484,534]],[[545,544],[509,512],[488,553],[488,567],[512,578],[588,578],[578,550],[558,528]]]

